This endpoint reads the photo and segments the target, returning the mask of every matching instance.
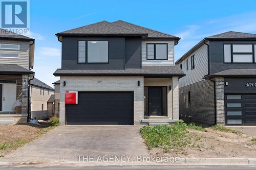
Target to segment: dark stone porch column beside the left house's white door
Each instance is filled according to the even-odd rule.
[[[22,114],[28,114],[29,75],[22,75]]]

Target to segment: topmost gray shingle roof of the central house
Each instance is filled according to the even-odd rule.
[[[118,20],[115,22],[101,21],[88,26],[83,26],[68,31],[57,33],[56,35],[67,34],[136,34],[144,35],[147,38],[167,38],[179,40],[179,37],[161,33],[152,29],[134,25],[133,23]]]

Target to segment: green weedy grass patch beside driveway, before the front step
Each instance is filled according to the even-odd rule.
[[[148,149],[163,147],[164,152],[169,152],[170,149],[182,149],[191,140],[187,125],[182,120],[171,126],[144,126],[140,129],[140,133]]]

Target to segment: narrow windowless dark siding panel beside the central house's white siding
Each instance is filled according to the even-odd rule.
[[[125,68],[141,68],[140,38],[125,38]]]

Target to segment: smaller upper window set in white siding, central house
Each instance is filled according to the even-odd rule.
[[[167,60],[167,43],[147,43],[147,60]]]

